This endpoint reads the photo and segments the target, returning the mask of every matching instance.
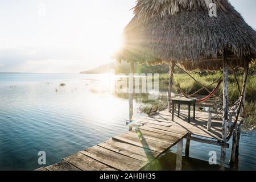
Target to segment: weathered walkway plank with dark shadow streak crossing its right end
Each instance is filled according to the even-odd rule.
[[[100,143],[98,146],[118,152],[122,155],[129,156],[130,158],[142,160],[144,162],[151,162],[160,154],[159,152],[147,150],[145,148],[133,146],[123,142],[117,142],[112,139]]]

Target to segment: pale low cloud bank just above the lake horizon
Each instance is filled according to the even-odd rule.
[[[0,72],[79,73],[110,61],[101,54],[69,49],[0,48]]]

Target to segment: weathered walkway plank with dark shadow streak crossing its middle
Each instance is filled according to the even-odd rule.
[[[170,147],[170,144],[158,142],[151,139],[145,139],[143,137],[139,138],[135,135],[129,135],[129,134],[122,134],[118,137],[113,137],[113,140],[118,140],[125,143],[133,144],[134,146],[147,148],[149,150],[153,150],[156,152],[162,153],[163,151],[166,151],[168,147]]]

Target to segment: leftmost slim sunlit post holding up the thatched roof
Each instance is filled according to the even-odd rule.
[[[134,63],[130,63],[130,74],[129,74],[129,119],[133,120],[133,76],[134,76]],[[131,131],[129,126],[129,131]]]

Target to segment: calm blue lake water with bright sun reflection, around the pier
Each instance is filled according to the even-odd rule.
[[[39,151],[46,151],[47,165],[53,164],[126,132],[128,101],[106,92],[111,84],[108,78],[0,73],[0,170],[38,168]],[[65,86],[59,86],[62,82]],[[139,115],[138,106],[135,104],[135,115]],[[243,133],[240,169],[256,169],[255,149],[256,132]],[[192,158],[208,161],[212,150],[220,153],[220,147],[191,143]],[[166,154],[159,161],[162,168],[158,169],[168,169],[166,161],[172,159]],[[203,162],[197,166],[203,168]],[[188,169],[195,168],[191,165]]]

